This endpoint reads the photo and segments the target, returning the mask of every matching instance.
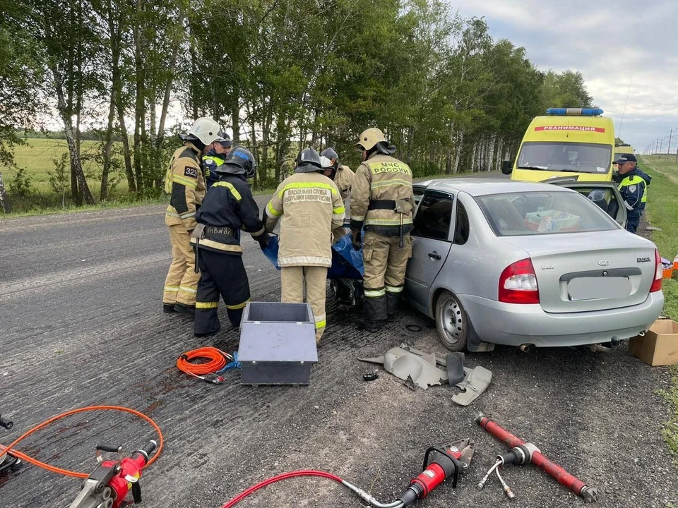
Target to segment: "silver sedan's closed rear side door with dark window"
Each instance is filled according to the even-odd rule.
[[[424,313],[428,313],[429,288],[450,253],[454,199],[452,193],[425,191],[417,207],[405,298]]]

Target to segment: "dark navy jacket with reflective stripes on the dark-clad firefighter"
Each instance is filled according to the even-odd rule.
[[[264,233],[259,208],[242,175],[221,175],[205,196],[196,219],[207,227],[203,237],[198,241],[191,238],[191,243],[219,253],[242,254],[240,230],[252,236]]]

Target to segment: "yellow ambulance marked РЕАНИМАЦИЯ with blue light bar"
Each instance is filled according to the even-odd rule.
[[[614,125],[598,108],[550,108],[525,131],[516,160],[501,172],[512,180],[611,181]]]

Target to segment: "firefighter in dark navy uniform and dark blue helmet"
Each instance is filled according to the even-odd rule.
[[[239,231],[251,233],[265,247],[268,234],[259,218],[259,209],[247,185],[256,163],[249,150],[233,147],[223,164],[215,168],[219,179],[213,183],[200,210],[191,243],[201,277],[196,301],[196,336],[211,335],[220,329],[217,308],[224,299],[231,325],[240,326],[242,310],[249,302],[249,281],[242,262]]]

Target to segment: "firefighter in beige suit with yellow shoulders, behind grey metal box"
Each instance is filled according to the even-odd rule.
[[[311,304],[316,343],[326,327],[327,269],[332,265],[332,231],[344,223],[345,208],[336,184],[323,175],[313,148],[297,156],[295,174],[275,190],[264,210],[266,231],[280,220],[280,281],[283,302]]]

